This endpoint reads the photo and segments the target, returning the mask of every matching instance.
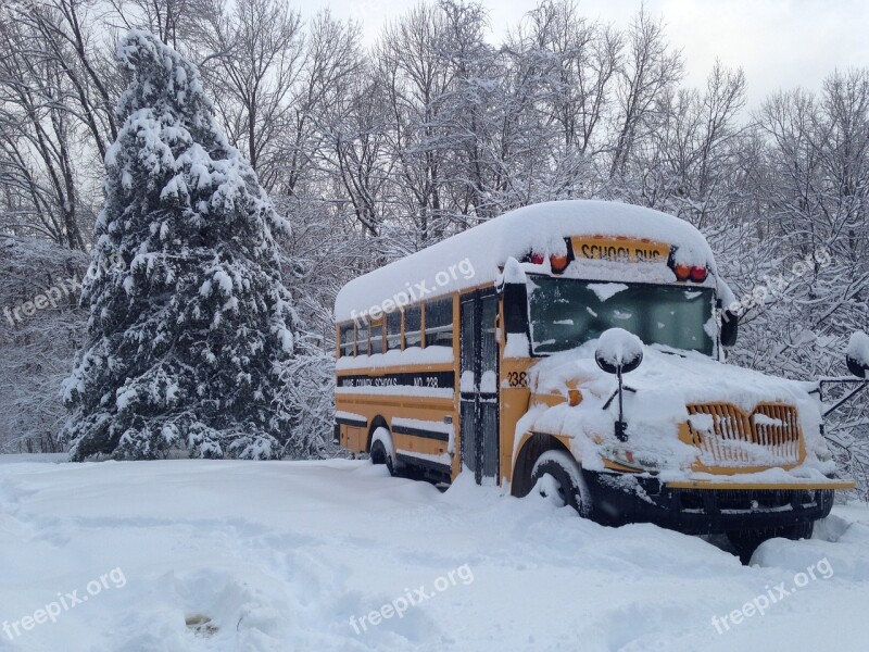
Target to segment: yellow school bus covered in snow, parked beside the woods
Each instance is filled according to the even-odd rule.
[[[820,401],[725,362],[703,236],[627,204],[512,211],[336,299],[335,441],[394,474],[537,488],[600,523],[809,536],[837,479]],[[865,371],[865,369],[864,369]]]

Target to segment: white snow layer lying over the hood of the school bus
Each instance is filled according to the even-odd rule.
[[[615,376],[597,367],[594,361],[596,346],[597,340],[593,340],[551,355],[531,367],[532,391],[564,394],[567,384],[571,383],[583,398],[575,408],[567,403],[532,408],[517,426],[517,438],[532,428],[574,436],[574,452],[587,468],[602,468],[602,447],[620,444],[614,435],[618,401],[614,400],[607,410],[603,410],[618,385]],[[819,403],[808,393],[814,384],[767,376],[717,362],[697,352],[679,351],[677,354],[671,351],[659,346],[643,347],[642,364],[624,376],[625,386],[637,391],[625,391],[624,394],[628,442],[621,446],[646,453],[658,467],[688,471],[696,462],[698,450],[679,439],[680,424],[689,421],[688,404],[725,402],[751,413],[758,403],[781,402],[798,411],[807,453],[801,467],[809,465],[824,474],[834,471],[832,462],[821,464],[816,455],[824,444],[820,436]],[[691,418],[702,421],[703,416]],[[694,425],[705,429],[701,423]],[[594,443],[592,438],[595,435],[603,443]],[[746,446],[755,449],[755,455],[763,453],[761,447],[747,442]],[[758,465],[764,465],[764,460],[754,459]]]

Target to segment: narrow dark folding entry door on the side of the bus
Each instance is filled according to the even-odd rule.
[[[498,296],[478,290],[462,297],[459,437],[462,464],[478,485],[498,484]]]

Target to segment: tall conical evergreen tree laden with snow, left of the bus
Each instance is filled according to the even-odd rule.
[[[64,383],[72,414],[61,438],[76,461],[181,446],[192,456],[278,457],[297,316],[275,237],[289,225],[218,129],[193,64],[141,30],[116,59],[131,80],[105,156],[83,287],[88,340]]]

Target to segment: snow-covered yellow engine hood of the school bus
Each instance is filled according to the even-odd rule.
[[[701,353],[675,352],[657,346],[644,347],[643,363],[624,376],[626,388],[634,391],[624,393],[628,441],[618,441],[614,434],[617,399],[604,409],[618,384],[615,376],[597,367],[595,346],[596,340],[556,353],[529,369],[531,406],[517,426],[517,438],[528,431],[568,437],[577,459],[587,468],[603,468],[603,460],[613,459],[608,451],[627,448],[645,461],[644,467],[659,471],[687,473],[696,471],[702,462],[703,468],[715,466],[719,473],[797,463],[815,477],[834,472],[820,435],[820,404],[809,393],[815,384],[767,376]],[[567,398],[571,389],[581,393],[581,401],[574,406],[558,400]],[[802,442],[794,447],[798,449],[798,460],[794,457],[790,464],[772,447],[755,444],[751,435],[716,442],[732,449],[729,459],[717,449],[704,452],[703,447],[685,441],[689,424],[692,431],[701,432],[700,439],[704,431],[709,438],[715,436],[716,422],[751,423],[748,428],[754,428],[755,422],[781,424],[774,418],[783,414],[781,406],[795,411],[789,414],[798,424],[805,443],[804,448]],[[708,457],[713,452],[717,457],[709,464],[704,455]]]

